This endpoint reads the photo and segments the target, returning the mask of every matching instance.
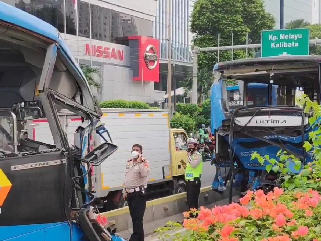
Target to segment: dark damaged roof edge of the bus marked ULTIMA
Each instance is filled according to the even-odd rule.
[[[220,62],[214,65],[213,70],[223,71],[225,69],[256,66],[256,65],[277,65],[277,64],[308,64],[321,62],[321,56],[319,55],[305,55],[294,56],[285,55],[277,57],[264,57],[264,58],[245,58],[239,60],[232,60],[226,62]]]

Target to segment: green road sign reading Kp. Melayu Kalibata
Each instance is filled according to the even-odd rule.
[[[262,31],[262,57],[309,55],[310,30],[280,29]]]

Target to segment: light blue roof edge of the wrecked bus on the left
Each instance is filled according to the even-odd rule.
[[[4,2],[0,2],[0,21],[14,24],[59,42],[59,32],[54,26]]]

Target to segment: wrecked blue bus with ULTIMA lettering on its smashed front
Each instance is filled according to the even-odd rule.
[[[241,192],[269,191],[277,185],[277,173],[266,172],[268,161],[262,165],[251,160],[254,152],[278,160],[278,151],[287,151],[303,165],[313,160],[311,152],[303,148],[312,130],[309,115],[297,99],[306,94],[320,103],[320,61],[321,56],[282,56],[228,61],[214,66],[214,77],[218,80],[213,83],[211,95],[212,133],[216,136],[212,163],[218,172],[213,190],[224,190],[228,180]],[[233,93],[229,92],[231,85],[237,86]],[[301,168],[294,162],[286,161],[291,172],[300,172]]]

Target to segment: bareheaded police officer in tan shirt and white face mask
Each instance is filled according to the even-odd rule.
[[[127,161],[123,198],[127,200],[133,222],[133,234],[130,241],[144,241],[143,217],[146,209],[147,177],[150,171],[149,161],[143,159],[143,147],[134,144],[132,158]]]

